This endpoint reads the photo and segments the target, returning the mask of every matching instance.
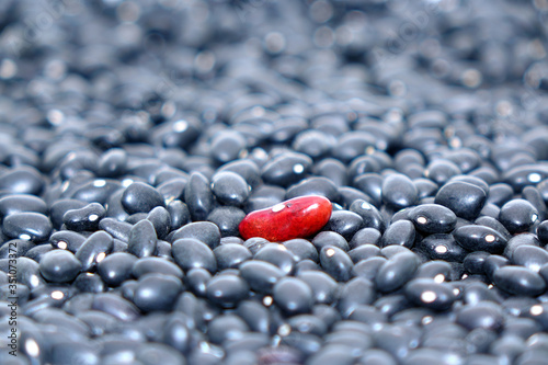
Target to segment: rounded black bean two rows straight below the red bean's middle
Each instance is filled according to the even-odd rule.
[[[312,307],[313,293],[304,281],[284,277],[274,285],[273,299],[287,313],[306,313]]]

